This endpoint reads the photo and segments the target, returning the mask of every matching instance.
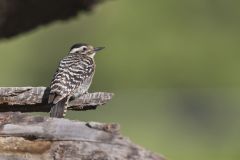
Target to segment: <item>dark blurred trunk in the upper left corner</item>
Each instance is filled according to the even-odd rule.
[[[75,17],[102,0],[0,0],[0,38],[9,38],[37,26]]]

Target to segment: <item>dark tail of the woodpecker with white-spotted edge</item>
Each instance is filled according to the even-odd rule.
[[[67,97],[54,104],[50,111],[50,117],[63,118],[67,111]]]

